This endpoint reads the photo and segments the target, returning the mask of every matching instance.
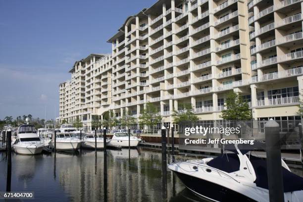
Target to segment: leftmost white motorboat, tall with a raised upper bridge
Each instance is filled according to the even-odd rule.
[[[35,126],[25,124],[18,128],[17,138],[12,148],[18,154],[39,154],[43,151],[44,143],[38,137]]]

